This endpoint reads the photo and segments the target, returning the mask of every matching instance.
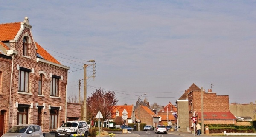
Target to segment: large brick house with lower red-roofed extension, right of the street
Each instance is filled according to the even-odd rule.
[[[228,95],[217,95],[211,89],[205,92],[203,87],[200,89],[193,83],[179,99],[188,99],[187,122],[191,130],[193,122],[190,117],[197,117],[197,122],[201,123],[201,94],[203,94],[204,124],[236,124],[236,117],[229,111]]]

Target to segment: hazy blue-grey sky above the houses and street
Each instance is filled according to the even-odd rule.
[[[229,103],[256,103],[255,7],[254,0],[0,0],[0,23],[29,18],[35,42],[70,67],[67,96],[78,96],[83,65],[94,59],[87,96],[114,91],[118,105],[139,96],[175,104],[193,83],[229,95]]]

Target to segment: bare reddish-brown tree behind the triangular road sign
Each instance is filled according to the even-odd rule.
[[[104,92],[101,88],[96,89],[90,97],[87,98],[87,117],[90,120],[96,120],[98,111],[102,113],[103,118],[100,119],[101,131],[103,131],[103,123],[111,119],[112,115],[116,115],[114,111],[117,105],[117,98],[115,92]]]

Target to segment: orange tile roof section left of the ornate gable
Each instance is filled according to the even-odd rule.
[[[20,22],[0,24],[0,41],[13,40],[20,30]]]

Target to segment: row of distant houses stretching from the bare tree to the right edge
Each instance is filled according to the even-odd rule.
[[[158,124],[178,126],[179,131],[193,130],[191,117],[197,117],[196,123],[235,125],[251,125],[248,121],[256,119],[256,104],[229,104],[228,95],[217,95],[211,89],[206,92],[194,83],[185,90],[175,105],[169,102],[159,111],[145,101],[137,101],[135,106],[118,106],[115,111],[121,112],[123,109],[130,112],[126,123],[142,122],[154,127]],[[118,124],[124,123],[120,113],[112,118]]]

